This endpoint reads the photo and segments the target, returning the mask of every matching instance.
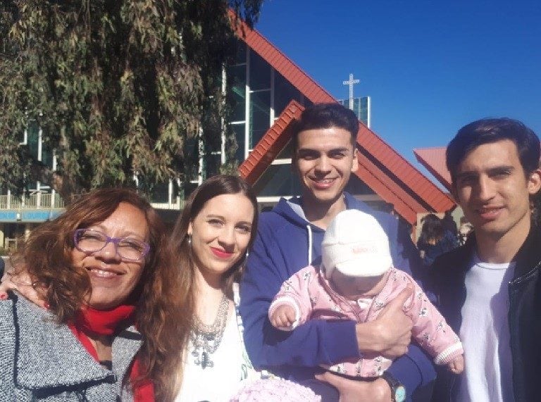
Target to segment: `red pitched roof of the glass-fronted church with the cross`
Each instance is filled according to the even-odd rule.
[[[252,30],[246,24],[237,25],[237,35],[267,63],[273,66],[286,80],[290,81],[294,87],[299,89],[306,99],[312,103],[334,102],[336,101],[328,92],[320,87],[311,79],[301,68],[295,65],[290,58],[287,58],[273,44],[270,44],[259,32]],[[292,106],[292,103],[286,108]],[[302,108],[298,103],[294,103],[295,108]],[[303,109],[304,110],[304,109]],[[284,117],[280,115],[277,123]],[[288,117],[285,117],[287,119]],[[292,119],[291,119],[292,120]],[[290,121],[291,121],[290,120]],[[269,132],[255,146],[249,158],[240,166],[240,172],[243,177],[250,177],[251,182],[255,182],[263,171],[272,163],[273,158],[278,154],[273,148],[272,158],[263,158],[263,155],[269,149],[269,144],[278,145],[280,135],[287,136],[287,125],[283,127],[283,120],[280,125],[275,123],[270,127]],[[274,138],[274,139],[272,139]],[[270,139],[270,143],[268,142]],[[262,144],[263,141],[267,141]],[[282,144],[283,143],[283,144]],[[280,139],[282,147],[287,140]],[[357,144],[361,156],[359,157],[359,170],[356,174],[363,182],[373,189],[388,203],[392,203],[395,210],[408,222],[416,222],[416,214],[424,212],[443,212],[454,206],[454,201],[444,194],[438,187],[428,180],[421,172],[399,155],[391,146],[383,141],[372,130],[361,124],[357,136]],[[263,161],[263,159],[265,159]],[[252,167],[253,166],[253,167]],[[251,169],[257,170],[251,172]]]

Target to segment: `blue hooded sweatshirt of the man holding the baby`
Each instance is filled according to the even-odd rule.
[[[396,218],[374,211],[347,193],[344,201],[348,209],[370,213],[380,222],[389,237],[395,267],[410,275],[411,268],[422,267],[417,249],[409,234],[399,230]],[[273,211],[259,217],[256,240],[240,285],[244,342],[252,363],[297,382],[313,379],[318,365],[359,358],[354,321],[311,320],[285,332],[270,325],[267,317],[282,282],[306,265],[321,262],[324,234],[325,230],[304,218],[299,198],[280,199]],[[417,346],[410,346],[409,352],[394,360],[388,371],[404,384],[409,396],[435,378],[432,363]]]

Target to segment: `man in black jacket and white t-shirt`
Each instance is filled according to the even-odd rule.
[[[447,147],[454,197],[474,232],[431,271],[466,358],[462,375],[438,373],[434,401],[540,400],[541,232],[530,201],[539,159],[535,133],[506,118],[466,125]]]

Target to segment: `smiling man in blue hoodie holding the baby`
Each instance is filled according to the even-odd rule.
[[[357,168],[358,131],[356,115],[338,103],[309,106],[294,123],[292,165],[301,183],[301,196],[281,199],[273,211],[261,213],[241,280],[240,313],[254,366],[310,384],[328,401],[339,396],[332,387],[314,381],[314,368],[318,365],[333,365],[350,358],[359,360],[361,353],[397,358],[388,370],[388,381],[380,378],[356,382],[330,373],[318,377],[340,389],[342,395],[354,395],[356,401],[390,401],[399,387],[406,388],[408,397],[418,387],[430,387],[435,375],[423,351],[409,346],[412,324],[400,303],[384,308],[377,320],[361,324],[354,320],[312,320],[285,333],[268,320],[268,308],[282,282],[306,265],[321,262],[325,230],[346,209],[364,211],[380,222],[389,237],[395,266],[406,272],[422,266],[409,233],[399,231],[397,219],[389,213],[373,211],[344,191]],[[399,297],[405,301],[409,292],[405,290]],[[406,352],[407,356],[399,357]]]

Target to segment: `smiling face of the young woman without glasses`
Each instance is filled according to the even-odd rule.
[[[189,224],[192,256],[204,277],[221,279],[246,252],[254,206],[242,193],[221,194],[206,201]]]

